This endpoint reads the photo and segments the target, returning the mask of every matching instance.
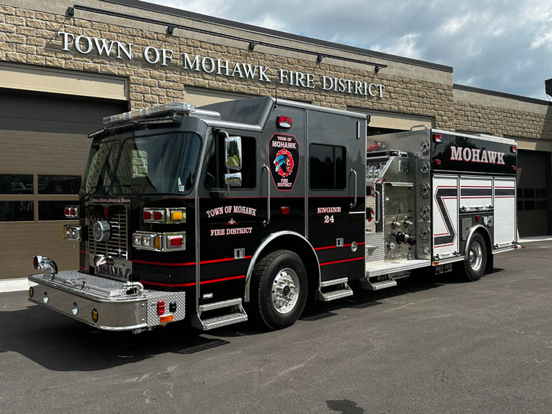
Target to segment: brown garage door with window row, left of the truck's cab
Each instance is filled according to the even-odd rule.
[[[0,89],[0,279],[31,273],[33,255],[78,267],[78,244],[61,237],[63,206],[78,199],[86,135],[126,110],[126,101]]]

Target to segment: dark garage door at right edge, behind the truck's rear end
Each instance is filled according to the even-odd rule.
[[[550,152],[519,150],[517,154],[517,230],[520,237],[549,234],[546,157]]]

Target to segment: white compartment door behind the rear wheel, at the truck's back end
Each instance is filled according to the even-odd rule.
[[[499,247],[517,241],[515,178],[495,178],[495,244]]]

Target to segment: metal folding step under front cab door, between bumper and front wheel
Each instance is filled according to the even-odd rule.
[[[199,311],[192,317],[192,326],[201,331],[237,324],[247,320],[242,306],[242,298],[223,300],[211,304],[199,305]]]

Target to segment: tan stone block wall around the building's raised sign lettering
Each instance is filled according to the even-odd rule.
[[[248,43],[244,41],[181,29],[175,30],[171,35],[166,34],[166,26],[114,19],[103,14],[79,12],[70,18],[63,14],[66,10],[63,3],[64,0],[59,1],[59,6],[55,9],[59,10],[59,14],[52,11],[0,6],[0,60],[128,77],[131,108],[186,100],[186,86],[264,96],[274,96],[277,86],[277,95],[287,99],[339,109],[354,107],[423,115],[433,117],[437,128],[454,128],[452,75],[449,73],[446,73],[449,77],[449,81],[446,82],[442,81],[442,73],[435,76],[435,79],[439,79],[435,82],[422,79],[423,77],[412,79],[397,76],[397,70],[388,70],[389,68],[383,68],[376,74],[373,66],[339,59],[326,59],[318,63],[316,56],[267,46],[257,46],[252,51],[248,50]],[[93,6],[103,6],[103,3],[98,4],[95,1]],[[52,7],[45,6],[45,9],[52,10]],[[217,30],[224,30],[224,27],[217,27]],[[124,56],[119,59],[113,54],[110,57],[105,54],[99,55],[96,48],[83,55],[75,50],[72,41],[69,43],[70,50],[62,50],[63,36],[57,34],[59,31],[70,32],[75,36],[83,34],[90,38],[132,43],[133,59],[126,59]],[[251,34],[244,33],[244,36],[250,37]],[[278,39],[272,41],[277,43]],[[81,44],[86,46],[86,41]],[[148,46],[173,50],[172,61],[167,66],[148,63],[143,56],[144,48]],[[299,43],[295,47],[302,46]],[[312,49],[312,46],[309,47]],[[208,55],[213,59],[228,60],[231,64],[244,62],[268,66],[271,69],[267,75],[273,81],[268,83],[188,70],[183,68],[184,53],[201,57]],[[393,65],[393,62],[384,63],[388,63],[390,68]],[[277,68],[309,72],[317,78],[326,75],[382,83],[385,86],[383,97],[322,90],[319,84],[315,89],[277,84]]]

